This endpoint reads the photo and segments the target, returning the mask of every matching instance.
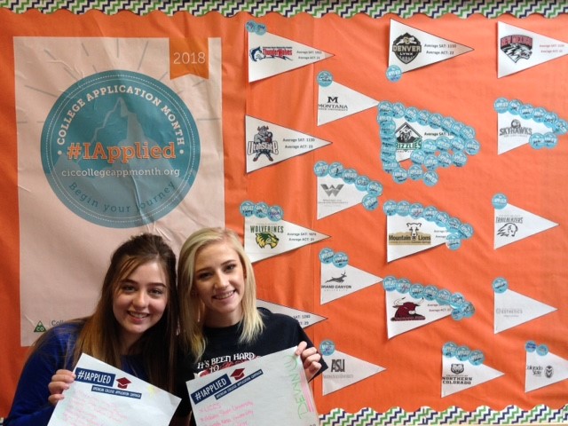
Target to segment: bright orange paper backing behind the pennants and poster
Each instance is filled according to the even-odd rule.
[[[223,48],[223,136],[225,146],[225,209],[227,225],[242,233],[242,201],[264,201],[284,209],[284,219],[330,235],[326,241],[275,256],[255,265],[258,296],[298,310],[326,317],[307,328],[314,343],[329,339],[339,351],[386,367],[379,375],[352,384],[326,397],[321,378],[314,395],[320,413],[335,407],[356,412],[370,406],[384,412],[393,406],[414,411],[421,406],[436,410],[459,406],[522,409],[545,404],[561,407],[568,402],[568,381],[525,393],[525,342],[546,343],[551,352],[568,359],[568,268],[566,213],[568,136],[555,149],[521,146],[497,155],[495,99],[519,99],[568,118],[568,57],[555,59],[516,75],[497,78],[497,21],[474,15],[463,20],[453,15],[432,20],[416,15],[400,20],[436,36],[472,47],[474,51],[403,75],[398,83],[385,77],[389,54],[389,24],[396,16],[371,19],[358,15],[342,19],[328,14],[314,19],[302,13],[293,18],[269,14],[254,19],[269,32],[332,53],[330,59],[256,83],[247,83],[246,13],[224,18],[217,12],[203,17],[178,12],[167,17],[152,12],[145,17],[130,12],[107,16],[87,12],[76,16],[59,11],[49,15],[31,11],[14,14],[0,9],[0,416],[6,415],[27,354],[20,347],[18,170],[16,114],[14,111],[13,36],[109,37],[221,37]],[[399,20],[399,19],[398,19]],[[546,20],[533,15],[524,20],[502,16],[500,21],[568,42],[568,16]],[[336,82],[377,100],[402,102],[472,126],[481,144],[468,164],[439,172],[439,183],[395,184],[380,162],[376,108],[318,127],[319,71],[330,71]],[[332,145],[272,167],[247,174],[245,169],[245,115],[303,131]],[[434,205],[474,227],[474,237],[462,247],[445,247],[386,263],[386,219],[382,209],[362,206],[331,217],[316,219],[318,161],[342,162],[383,183],[379,201],[421,202]],[[493,249],[493,194],[506,193],[509,202],[546,217],[559,225],[523,241]],[[190,194],[191,195],[191,194]],[[57,241],[49,230],[37,238]],[[81,238],[77,235],[76,238]],[[92,241],[84,241],[89,252]],[[319,304],[319,250],[332,248],[349,255],[350,264],[375,275],[406,277],[461,292],[476,306],[471,319],[439,320],[388,340],[384,292],[380,285],[365,288],[330,304]],[[84,261],[77,255],[69,262]],[[49,271],[57,280],[65,271]],[[493,289],[498,276],[506,277],[514,291],[557,308],[539,319],[493,334]],[[41,297],[41,295],[38,295]],[[441,348],[453,341],[485,353],[485,364],[505,375],[467,391],[440,398]]]

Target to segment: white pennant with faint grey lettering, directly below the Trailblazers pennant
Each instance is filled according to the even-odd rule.
[[[553,306],[511,290],[505,279],[497,280],[501,280],[501,286],[505,287],[495,288],[493,295],[495,334],[556,311]]]

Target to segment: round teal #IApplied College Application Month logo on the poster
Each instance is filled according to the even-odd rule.
[[[89,222],[130,228],[166,216],[199,170],[199,133],[163,83],[106,71],[64,91],[43,126],[43,172],[68,209]]]

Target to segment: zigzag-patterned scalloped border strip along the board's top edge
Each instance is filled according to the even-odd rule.
[[[109,15],[121,11],[130,11],[138,15],[154,11],[166,15],[188,12],[193,16],[219,12],[225,17],[231,17],[239,12],[248,12],[255,17],[276,12],[291,17],[304,12],[315,18],[327,13],[335,13],[342,18],[351,18],[358,13],[367,14],[371,18],[381,18],[388,13],[398,15],[400,18],[410,18],[416,13],[422,13],[430,18],[439,18],[446,13],[453,13],[461,18],[476,13],[486,18],[498,18],[505,13],[517,18],[525,18],[533,13],[546,18],[555,18],[568,12],[568,2],[557,0],[0,0],[0,7],[16,13],[31,9],[51,13],[65,9],[75,14],[97,10]]]

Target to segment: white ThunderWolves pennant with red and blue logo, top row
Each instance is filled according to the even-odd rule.
[[[333,56],[315,47],[269,33],[262,24],[249,22],[247,30],[249,83]]]

